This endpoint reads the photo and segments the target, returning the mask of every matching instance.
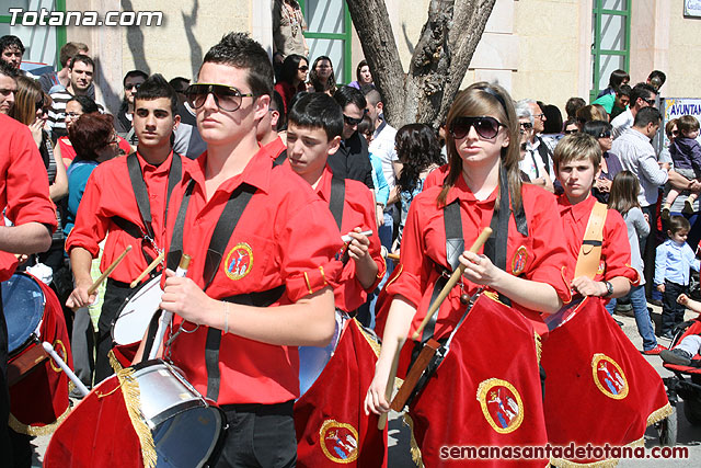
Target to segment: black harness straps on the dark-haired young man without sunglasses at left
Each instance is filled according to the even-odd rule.
[[[131,189],[134,190],[134,196],[136,197],[136,204],[139,207],[139,214],[143,228],[136,225],[128,219],[119,216],[114,216],[112,220],[119,229],[127,232],[135,239],[141,239],[141,253],[148,263],[151,263],[153,259],[143,248],[143,242],[149,242],[153,249],[161,253],[161,249],[156,244],[156,235],[153,232],[153,218],[151,217],[151,204],[149,203],[149,192],[143,181],[143,173],[141,172],[141,165],[136,156],[136,152],[127,156],[127,169],[129,170],[129,180],[131,181]],[[183,160],[181,156],[173,151],[173,160],[171,161],[171,169],[168,174],[168,195],[165,197],[165,214],[163,219],[168,219],[168,205],[171,199],[173,189],[177,185],[183,178]]]

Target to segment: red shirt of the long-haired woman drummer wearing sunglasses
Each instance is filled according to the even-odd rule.
[[[387,286],[390,296],[401,294],[417,309],[410,335],[421,324],[428,310],[434,285],[440,272],[451,270],[446,259],[444,210],[436,204],[440,190],[440,186],[424,190],[412,202],[402,237],[401,259],[398,266],[401,273]],[[456,185],[448,192],[447,203],[456,198],[460,199],[466,250],[474,243],[479,233],[490,226],[497,192],[498,189],[486,199],[478,201],[462,176],[458,178]],[[524,237],[516,230],[516,222],[510,216],[506,270],[522,278],[551,285],[555,288],[558,296],[568,303],[570,286],[564,279],[564,270],[567,269],[570,259],[565,250],[565,239],[558,218],[555,201],[550,193],[530,184],[524,184],[521,193],[528,236]],[[478,285],[464,278],[463,282],[464,293],[472,295],[476,292]],[[440,306],[435,328],[437,338],[448,334],[462,317],[464,306],[460,304],[461,294],[460,287],[453,287]],[[515,303],[514,307],[531,320],[538,332],[545,332],[547,329],[539,319],[538,312]]]

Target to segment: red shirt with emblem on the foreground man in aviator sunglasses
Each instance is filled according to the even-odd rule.
[[[231,193],[241,183],[257,189],[225,250],[209,297],[264,292],[285,285],[275,305],[292,304],[329,285],[341,270],[333,260],[341,249],[341,233],[324,202],[287,165],[273,168],[261,150],[243,172],[223,182],[207,201],[207,152],[173,193],[169,213],[169,242],[187,180],[195,181],[189,198],[183,252],[192,255],[187,276],[204,286],[203,271],[211,233]],[[242,259],[242,260],[240,260]],[[264,311],[262,311],[264,313]],[[235,315],[231,320],[235,321]],[[175,330],[182,321],[175,317]],[[194,326],[185,324],[188,330]],[[172,346],[175,364],[203,395],[207,393],[205,342],[207,327],[181,333]],[[225,334],[219,351],[221,384],[218,403],[279,403],[299,397],[299,356],[296,346],[279,346]]]

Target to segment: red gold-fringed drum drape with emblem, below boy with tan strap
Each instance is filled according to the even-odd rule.
[[[598,298],[586,298],[550,332],[541,364],[552,445],[632,444],[643,438],[650,424],[671,412],[662,378]]]

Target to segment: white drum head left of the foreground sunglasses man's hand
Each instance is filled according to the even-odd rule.
[[[117,344],[131,344],[141,341],[153,313],[161,304],[161,275],[142,284],[117,312],[112,327],[112,339]]]

